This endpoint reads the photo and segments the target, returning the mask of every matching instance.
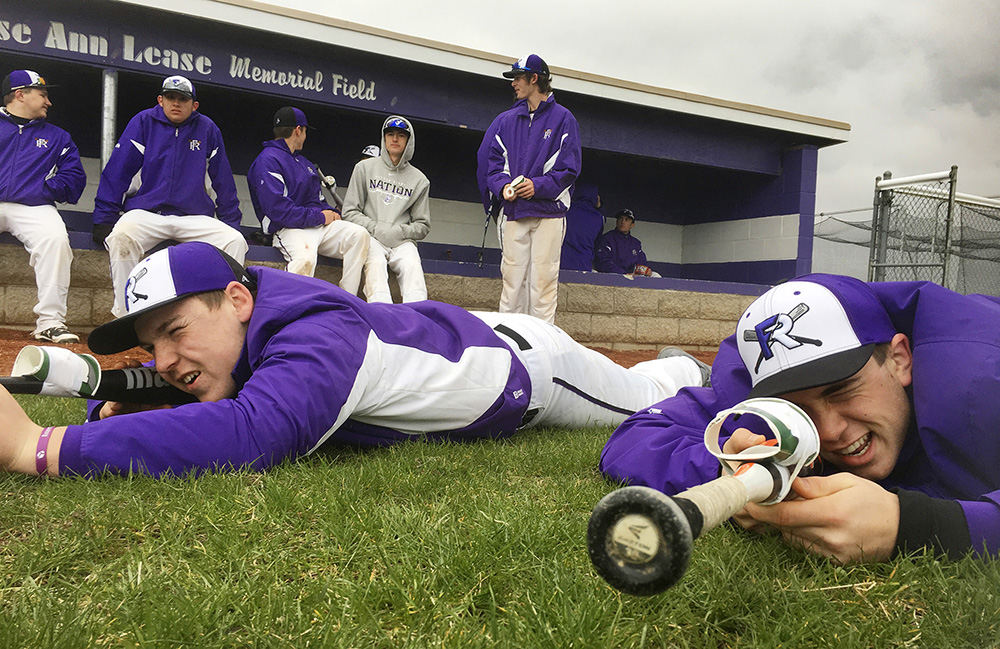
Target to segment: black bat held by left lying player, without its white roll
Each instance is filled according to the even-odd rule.
[[[0,377],[0,385],[11,394],[39,394],[43,383],[23,376]],[[98,401],[122,401],[149,405],[181,405],[197,399],[163,380],[150,367],[103,370],[101,381],[92,395],[80,395]]]

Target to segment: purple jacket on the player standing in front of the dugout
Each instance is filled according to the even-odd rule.
[[[504,185],[519,175],[535,185],[531,199],[501,200],[506,217],[514,221],[565,215],[581,167],[580,132],[573,114],[550,94],[531,117],[528,102],[522,99],[497,116],[486,132],[486,137],[490,135],[486,165],[490,193],[502,196]]]

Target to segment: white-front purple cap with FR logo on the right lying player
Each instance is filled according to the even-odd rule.
[[[754,300],[736,325],[751,397],[835,383],[868,362],[896,334],[868,284],[840,275],[804,275]]]

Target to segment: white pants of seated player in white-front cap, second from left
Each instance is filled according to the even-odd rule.
[[[241,264],[247,256],[248,246],[243,234],[214,217],[200,214],[173,216],[146,210],[129,210],[122,214],[111,234],[104,240],[111,259],[111,284],[115,290],[115,303],[111,313],[116,318],[126,313],[125,284],[132,268],[142,261],[147,250],[169,239],[179,243],[210,243]]]

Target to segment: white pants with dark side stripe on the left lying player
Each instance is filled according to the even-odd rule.
[[[531,402],[525,427],[617,426],[683,387],[701,385],[697,363],[684,356],[624,368],[538,318],[514,313],[473,315],[493,327],[528,370]]]

